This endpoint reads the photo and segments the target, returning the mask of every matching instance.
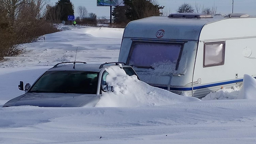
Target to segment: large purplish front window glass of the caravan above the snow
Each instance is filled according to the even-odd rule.
[[[155,64],[175,64],[178,68],[183,44],[133,42],[128,64],[138,68],[154,68]]]

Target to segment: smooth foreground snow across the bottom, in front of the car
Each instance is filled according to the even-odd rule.
[[[255,100],[139,108],[0,108],[0,140],[8,144],[255,144],[255,109]]]

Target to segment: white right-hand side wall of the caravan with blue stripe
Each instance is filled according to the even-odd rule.
[[[256,18],[234,18],[213,22],[203,27],[193,78],[194,81],[200,80],[201,83],[194,85],[193,96],[203,97],[222,87],[241,86],[244,74],[256,75],[255,25]],[[218,65],[216,62],[216,66],[205,66],[204,62],[208,63],[206,61],[211,55],[207,55],[208,48],[214,49],[218,43],[220,47],[225,45],[224,63]],[[217,51],[216,61],[220,61],[218,53]]]

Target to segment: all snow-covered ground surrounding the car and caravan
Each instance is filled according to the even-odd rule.
[[[77,61],[117,61],[122,34],[123,29],[85,27],[24,44],[27,52],[0,63],[0,107],[23,93],[20,80],[33,83],[54,64],[73,61],[76,47]],[[114,71],[107,77],[114,93],[104,94],[99,107],[0,108],[0,144],[256,143],[256,80],[251,77],[245,76],[241,91],[222,89],[200,101],[118,70],[108,69]]]

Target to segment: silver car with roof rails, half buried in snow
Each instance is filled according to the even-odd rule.
[[[6,102],[3,107],[93,107],[100,100],[102,92],[113,92],[113,87],[106,83],[106,68],[112,65],[139,79],[133,68],[125,63],[63,62],[44,72],[31,87],[27,83],[24,88],[23,81],[20,81],[19,89],[25,94]]]

